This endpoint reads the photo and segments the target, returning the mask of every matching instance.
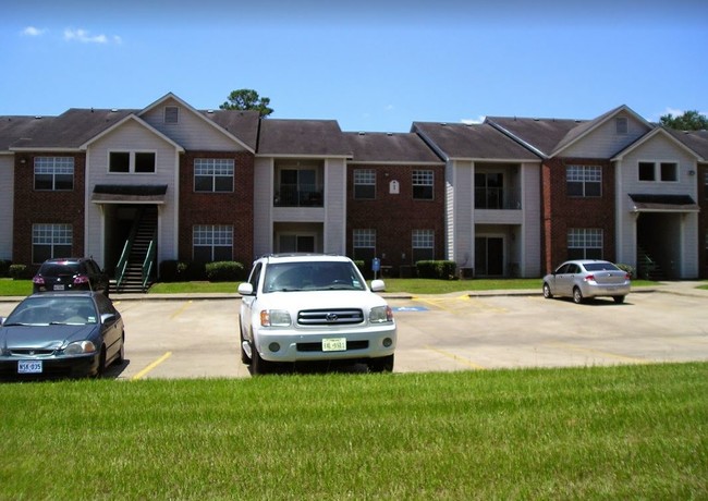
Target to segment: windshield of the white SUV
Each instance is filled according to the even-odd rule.
[[[273,262],[266,268],[264,292],[364,291],[356,268],[350,262]]]

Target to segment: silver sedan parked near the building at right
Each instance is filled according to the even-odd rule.
[[[596,259],[565,261],[544,277],[544,297],[570,296],[578,304],[598,296],[610,296],[615,303],[623,303],[630,288],[630,273],[610,261]]]

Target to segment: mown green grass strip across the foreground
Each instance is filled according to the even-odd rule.
[[[0,499],[706,499],[708,364],[0,384]]]

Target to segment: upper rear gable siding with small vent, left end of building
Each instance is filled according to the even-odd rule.
[[[180,108],[178,123],[164,123],[164,107]],[[141,115],[143,120],[166,136],[178,143],[184,149],[208,151],[243,151],[244,148],[211,126],[203,117],[196,115],[191,109],[184,108],[178,101],[168,99]]]

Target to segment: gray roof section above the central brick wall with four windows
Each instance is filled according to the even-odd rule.
[[[414,133],[344,133],[355,162],[442,163]]]

